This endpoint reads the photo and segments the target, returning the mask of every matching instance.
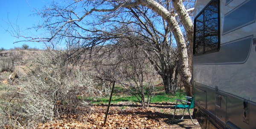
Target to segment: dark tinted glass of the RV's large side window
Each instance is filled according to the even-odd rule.
[[[218,0],[212,0],[195,18],[194,23],[194,54],[217,50],[219,45]]]

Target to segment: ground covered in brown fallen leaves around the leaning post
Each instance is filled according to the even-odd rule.
[[[92,105],[88,115],[64,115],[62,120],[39,124],[38,129],[201,129],[194,125],[185,111],[185,117],[172,124],[173,103],[151,103],[142,109],[135,104],[112,104],[104,125],[107,105]],[[177,109],[175,120],[182,117],[183,109]],[[192,113],[192,111],[191,111]],[[196,119],[193,119],[197,122]]]

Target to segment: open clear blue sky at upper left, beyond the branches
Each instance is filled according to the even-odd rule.
[[[19,42],[13,44],[17,39],[12,37],[6,29],[11,28],[8,25],[9,21],[20,26],[20,29],[32,27],[37,24],[39,17],[33,16],[33,8],[41,9],[44,5],[47,6],[50,0],[0,0],[0,48],[10,49],[14,47],[21,47],[24,43],[30,48],[43,49],[44,44],[33,42]],[[9,18],[8,18],[9,17]],[[36,34],[37,32],[32,32]]]

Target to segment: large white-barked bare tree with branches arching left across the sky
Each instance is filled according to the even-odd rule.
[[[188,86],[192,79],[188,51],[192,48],[193,26],[183,0],[64,0],[62,3],[53,1],[49,7],[36,10],[43,22],[34,28],[44,29],[47,32],[44,37],[31,37],[25,34],[22,37],[26,37],[26,41],[48,42],[51,40],[65,42],[64,39],[71,38],[73,46],[85,48],[116,43],[114,39],[133,32],[132,28],[126,29],[127,23],[133,23],[135,19],[135,15],[128,12],[131,12],[131,8],[138,7],[141,9],[146,7],[143,9],[153,11],[168,23],[168,30],[172,32],[177,43],[180,75],[186,80],[185,86]],[[179,20],[183,24],[190,47],[186,45]],[[19,37],[20,32],[17,32],[16,36]],[[189,89],[187,93],[192,94]]]

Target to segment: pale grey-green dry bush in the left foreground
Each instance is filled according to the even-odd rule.
[[[15,118],[3,125],[32,128],[63,114],[86,113],[87,103],[78,96],[99,91],[89,73],[71,67],[64,55],[64,50],[46,50],[35,60],[36,67],[27,70],[26,77],[19,77],[20,85],[2,95],[6,98],[1,106],[2,121]]]

